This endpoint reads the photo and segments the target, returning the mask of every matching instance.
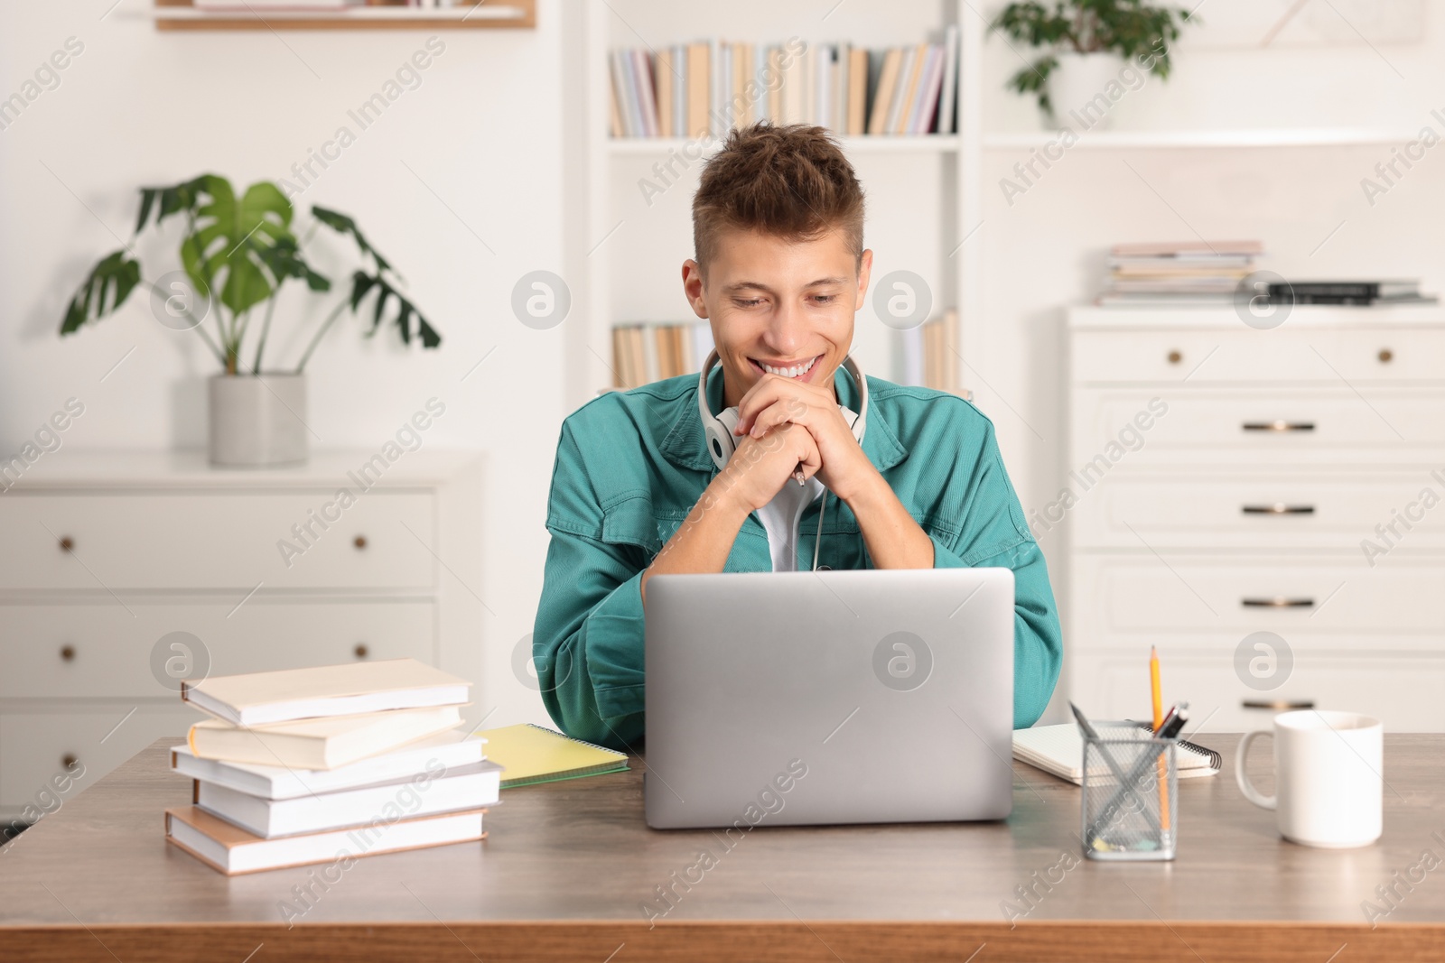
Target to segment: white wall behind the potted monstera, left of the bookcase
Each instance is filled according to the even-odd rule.
[[[542,0],[536,30],[435,32],[445,51],[367,130],[347,110],[434,32],[160,33],[131,13],[146,0],[107,14],[110,6],[0,9],[0,97],[19,91],[66,38],[84,45],[59,87],[0,130],[0,450],[16,450],[71,396],[85,414],[48,458],[202,445],[204,378],[215,365],[194,335],[160,326],[137,292],[120,315],[62,341],[64,306],[90,264],[129,240],[139,185],[202,172],[238,188],[290,176],[292,163],[347,124],[355,143],[298,206],[355,215],[445,341],[439,351],[406,351],[392,331],[367,341],[360,321],[338,322],[308,365],[314,445],[376,448],[428,397],[447,403],[426,445],[487,452],[484,582],[470,588],[496,615],[478,605],[487,677],[477,700],[500,706],[488,725],[545,720],[509,657],[532,631],[542,585],[564,414],[553,360],[568,325],[525,328],[510,293],[526,271],[561,270],[561,3]],[[318,260],[344,280],[351,248],[316,241],[335,253]],[[147,277],[173,270],[175,247],[172,231],[142,240]],[[318,303],[290,292],[272,357],[293,364],[319,315]]]

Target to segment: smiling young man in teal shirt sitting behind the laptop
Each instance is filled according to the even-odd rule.
[[[1013,569],[1014,726],[1032,725],[1062,641],[993,424],[957,396],[870,377],[861,443],[854,433],[863,397],[841,365],[873,251],[853,166],[821,127],[734,130],[702,172],[692,232],[682,290],[712,328],[707,406],[737,409],[736,452],[718,471],[696,375],[564,422],[533,632],[552,719],[617,748],[642,736],[653,575],[809,569],[816,552],[829,569]]]

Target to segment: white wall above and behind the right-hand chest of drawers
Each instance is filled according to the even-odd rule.
[[[1270,4],[1286,6],[1257,6]],[[1247,6],[1204,4],[1207,26],[1176,48],[1169,82],[1150,79],[1121,98],[1114,130],[1290,126],[1416,133],[1431,124],[1445,136],[1445,123],[1431,117],[1432,108],[1445,113],[1445,23],[1438,10],[1426,10],[1419,43],[1259,49],[1209,36],[1211,17],[1234,23]],[[1017,56],[998,36],[988,39],[985,52],[985,128],[1040,130],[1032,101],[1003,90]],[[998,427],[1026,511],[1052,501],[1069,468],[1064,310],[1098,293],[1110,245],[1259,238],[1267,250],[1260,266],[1289,279],[1420,277],[1426,290],[1445,292],[1445,146],[1428,150],[1371,205],[1360,180],[1390,160],[1389,143],[1188,150],[1091,143],[1097,140],[1082,131],[1079,143],[1012,204],[1000,180],[1014,176],[1013,165],[1027,162],[1029,149],[984,154],[984,312],[968,351],[988,385],[971,387]],[[1061,596],[1064,531],[1058,526],[1040,537]]]

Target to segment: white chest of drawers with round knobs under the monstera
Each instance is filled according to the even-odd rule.
[[[227,471],[62,448],[7,475],[0,819],[33,819],[184,732],[199,718],[171,680],[186,658],[231,674],[412,657],[480,681],[478,455],[374,455]],[[159,645],[158,668],[171,632],[198,642]],[[166,657],[182,660],[171,674]],[[52,777],[81,768],[56,793]]]

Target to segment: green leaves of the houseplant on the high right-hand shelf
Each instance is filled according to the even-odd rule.
[[[990,25],[994,30],[1042,51],[1009,79],[1019,94],[1035,94],[1039,107],[1053,117],[1061,68],[1079,58],[1114,53],[1147,74],[1168,79],[1170,45],[1181,27],[1198,23],[1183,7],[1155,6],[1144,0],[1055,0],[1010,3]]]

